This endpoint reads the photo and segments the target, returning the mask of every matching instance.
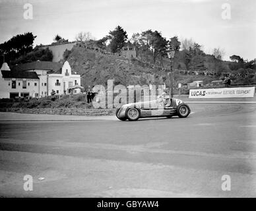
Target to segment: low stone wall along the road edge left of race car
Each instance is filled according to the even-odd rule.
[[[115,115],[115,109],[81,109],[81,108],[0,108],[1,112],[36,113],[36,114],[57,114],[57,115],[86,115],[103,116]]]

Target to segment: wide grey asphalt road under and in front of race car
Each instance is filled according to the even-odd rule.
[[[136,122],[2,120],[0,196],[255,197],[256,104],[191,109]]]

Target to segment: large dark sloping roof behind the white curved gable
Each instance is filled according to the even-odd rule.
[[[61,63],[53,61],[33,61],[30,63],[24,63],[22,65],[16,65],[13,67],[13,69],[15,71],[46,70],[53,71],[55,73],[59,71],[61,67]]]

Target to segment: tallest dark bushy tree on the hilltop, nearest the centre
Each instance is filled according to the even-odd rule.
[[[128,38],[127,32],[125,32],[121,26],[117,26],[115,27],[115,30],[110,31],[109,34],[110,49],[112,53],[116,53],[122,49],[123,45],[125,45],[125,41]]]

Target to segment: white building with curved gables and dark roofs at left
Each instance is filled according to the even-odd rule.
[[[3,63],[0,71],[0,98],[16,96],[44,97],[55,94],[79,94],[80,75],[72,73],[67,61],[63,65],[51,61],[34,61],[12,69]]]

